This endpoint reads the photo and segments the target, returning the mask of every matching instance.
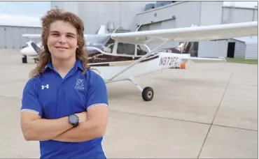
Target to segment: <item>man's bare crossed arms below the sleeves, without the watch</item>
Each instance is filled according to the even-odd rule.
[[[68,117],[41,119],[38,114],[22,112],[22,133],[27,141],[85,142],[104,135],[108,112],[108,107],[97,106],[78,113],[79,125],[76,128],[68,122]]]

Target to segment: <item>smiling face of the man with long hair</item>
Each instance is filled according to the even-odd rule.
[[[78,48],[76,28],[69,22],[61,20],[53,22],[50,24],[47,45],[52,60],[76,58],[76,49]]]

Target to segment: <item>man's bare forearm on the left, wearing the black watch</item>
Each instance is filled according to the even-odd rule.
[[[22,130],[27,141],[53,139],[71,128],[73,126],[68,122],[68,117],[60,119],[35,119],[22,124]]]

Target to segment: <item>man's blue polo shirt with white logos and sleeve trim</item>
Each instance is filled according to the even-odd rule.
[[[21,111],[34,112],[42,119],[59,119],[85,112],[96,105],[108,107],[106,84],[92,70],[82,75],[83,66],[75,66],[62,79],[48,63],[43,76],[29,79],[22,96]],[[106,158],[102,139],[87,142],[40,141],[41,158]]]

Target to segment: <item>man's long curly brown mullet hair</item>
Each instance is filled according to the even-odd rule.
[[[86,70],[90,68],[90,66],[87,65],[87,50],[85,49],[85,38],[84,38],[84,25],[83,21],[80,20],[80,17],[77,15],[65,12],[64,10],[54,9],[49,10],[45,16],[41,18],[42,21],[42,33],[41,33],[41,41],[42,41],[42,47],[41,51],[38,54],[38,64],[34,70],[31,70],[29,73],[29,77],[33,78],[38,75],[43,75],[43,70],[45,66],[51,61],[51,54],[48,50],[47,40],[48,40],[48,34],[50,32],[50,24],[52,22],[55,22],[57,20],[62,20],[64,22],[69,22],[73,27],[76,27],[76,31],[78,34],[78,48],[76,49],[76,59],[80,60],[83,64],[84,71],[83,73],[86,73]]]

